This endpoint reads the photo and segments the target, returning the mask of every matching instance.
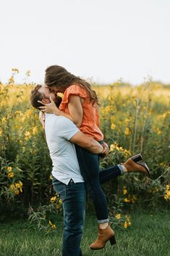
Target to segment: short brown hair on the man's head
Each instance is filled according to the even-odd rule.
[[[33,88],[33,90],[30,92],[30,104],[32,104],[33,107],[35,107],[36,109],[38,109],[38,107],[43,106],[43,104],[41,104],[38,101],[42,101],[44,95],[41,94],[38,90],[41,88],[41,85],[38,84],[35,86],[35,88]]]

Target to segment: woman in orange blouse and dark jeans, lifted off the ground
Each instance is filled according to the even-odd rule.
[[[80,128],[80,131],[93,137],[103,146],[103,155],[107,154],[109,147],[103,141],[103,133],[99,129],[98,97],[90,84],[80,77],[72,75],[64,67],[57,65],[46,69],[45,83],[51,92],[64,95],[59,109],[52,100],[51,104],[44,104],[45,107],[40,107],[40,109],[48,113],[68,117]],[[100,183],[110,180],[111,177],[113,178],[121,173],[135,170],[149,176],[149,170],[145,163],[138,162],[142,160],[142,157],[137,154],[137,156],[127,160],[123,165],[108,168],[107,173],[99,173],[99,156],[91,154],[80,146],[75,145],[75,148],[80,171],[85,180],[87,190],[93,199],[99,224],[98,239],[93,244],[90,244],[90,248],[102,249],[107,241],[110,240],[111,244],[116,244],[116,240],[114,231],[109,226],[106,197],[103,194]]]

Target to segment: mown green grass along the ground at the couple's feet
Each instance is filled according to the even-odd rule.
[[[133,212],[132,226],[116,229],[117,244],[108,243],[104,249],[91,251],[88,247],[97,234],[95,218],[87,216],[82,239],[84,256],[170,256],[169,212]],[[62,224],[58,232],[46,236],[27,229],[25,221],[0,224],[0,256],[59,256],[61,255]],[[72,256],[72,255],[70,255]]]

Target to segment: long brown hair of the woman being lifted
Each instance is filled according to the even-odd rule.
[[[58,88],[68,88],[72,84],[77,84],[85,89],[87,92],[90,102],[98,104],[98,96],[93,91],[90,83],[80,78],[79,76],[72,75],[64,67],[53,65],[47,67],[45,75],[46,86],[56,86]]]

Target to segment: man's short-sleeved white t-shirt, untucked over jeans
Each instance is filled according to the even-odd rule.
[[[80,130],[66,117],[46,114],[45,132],[50,157],[53,162],[52,176],[62,183],[83,182],[77,161],[75,144],[69,141]]]

